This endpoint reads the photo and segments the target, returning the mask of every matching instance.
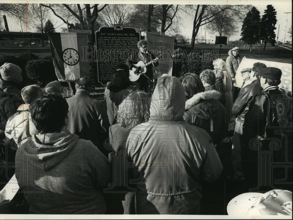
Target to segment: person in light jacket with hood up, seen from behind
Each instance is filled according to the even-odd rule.
[[[138,214],[199,214],[202,181],[216,181],[223,169],[211,137],[184,122],[176,77],[158,79],[150,106],[149,121],[132,128],[121,148]]]

